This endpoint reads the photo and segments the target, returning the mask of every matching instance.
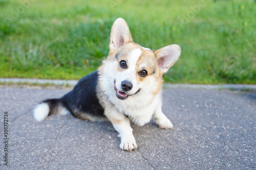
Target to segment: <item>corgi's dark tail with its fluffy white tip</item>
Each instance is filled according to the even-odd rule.
[[[70,110],[67,108],[62,99],[48,99],[42,101],[35,106],[33,112],[34,118],[41,122],[47,116],[52,114],[66,115],[70,114]]]

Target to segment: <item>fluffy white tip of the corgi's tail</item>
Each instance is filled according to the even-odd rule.
[[[49,106],[47,103],[41,103],[35,107],[33,110],[33,115],[36,121],[41,122],[44,120],[49,114]]]

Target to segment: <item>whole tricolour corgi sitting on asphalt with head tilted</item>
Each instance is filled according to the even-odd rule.
[[[152,51],[134,43],[122,18],[112,26],[109,48],[108,58],[97,71],[84,76],[62,98],[39,103],[33,116],[37,121],[52,114],[108,120],[121,138],[120,149],[132,151],[138,145],[131,122],[143,126],[153,117],[159,128],[173,129],[161,109],[162,76],[178,60],[181,48],[173,44]]]

